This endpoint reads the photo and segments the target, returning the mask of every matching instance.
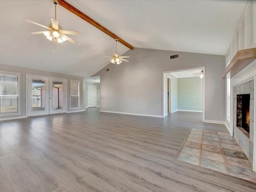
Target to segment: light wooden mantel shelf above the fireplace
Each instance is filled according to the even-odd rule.
[[[222,79],[230,79],[256,59],[256,48],[240,50],[222,73]]]

